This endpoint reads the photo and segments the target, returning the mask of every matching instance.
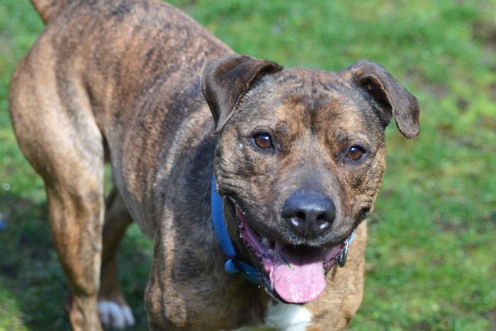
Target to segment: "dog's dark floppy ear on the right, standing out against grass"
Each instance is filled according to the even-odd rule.
[[[419,103],[381,64],[367,60],[356,62],[346,69],[351,80],[366,91],[382,111],[385,125],[391,116],[408,139],[419,135]]]

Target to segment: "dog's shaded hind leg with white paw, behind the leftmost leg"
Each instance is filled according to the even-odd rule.
[[[122,329],[132,327],[135,319],[118,281],[117,252],[119,242],[133,219],[115,188],[107,197],[106,211],[98,310],[104,327]]]

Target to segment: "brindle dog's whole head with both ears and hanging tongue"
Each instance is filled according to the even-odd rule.
[[[269,291],[315,300],[331,260],[373,211],[390,118],[405,137],[418,135],[417,99],[368,61],[323,72],[233,55],[205,64],[201,78],[231,236]]]

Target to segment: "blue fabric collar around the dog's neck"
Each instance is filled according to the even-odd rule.
[[[231,237],[229,236],[225,225],[224,212],[222,211],[222,197],[215,189],[215,175],[212,176],[210,207],[212,209],[212,221],[215,235],[217,235],[220,246],[222,246],[222,250],[227,255],[227,261],[224,264],[224,269],[227,274],[242,274],[245,279],[254,284],[264,284],[264,278],[260,272],[257,271],[257,269],[252,267],[250,264],[239,261],[236,257],[235,246],[232,243]],[[337,255],[339,267],[344,267],[346,257],[348,257],[349,245],[353,241],[354,236],[354,232],[351,232],[348,240],[344,243],[342,251]]]

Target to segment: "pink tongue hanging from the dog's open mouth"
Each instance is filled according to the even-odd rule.
[[[318,298],[325,290],[323,259],[323,249],[276,242],[270,279],[278,295],[289,303],[306,303]]]

